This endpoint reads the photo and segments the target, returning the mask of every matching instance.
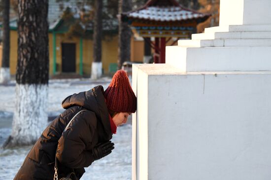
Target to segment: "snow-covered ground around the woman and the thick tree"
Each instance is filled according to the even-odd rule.
[[[104,89],[110,83],[104,77],[97,81],[91,79],[54,79],[49,82],[48,115],[57,116],[64,109],[61,102],[69,95],[87,91],[102,85]],[[15,102],[15,82],[8,86],[0,85],[0,146],[11,132],[11,122]],[[85,168],[81,180],[131,180],[132,176],[132,126],[130,123],[117,129],[112,142],[115,149],[106,157]],[[13,180],[25,156],[31,147],[12,150],[0,149],[0,180]]]

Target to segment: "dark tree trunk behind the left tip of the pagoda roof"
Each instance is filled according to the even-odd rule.
[[[119,14],[132,10],[132,0],[119,0]],[[127,22],[122,22],[119,18],[119,57],[118,68],[121,69],[123,62],[130,61],[131,58],[131,35],[132,31]]]

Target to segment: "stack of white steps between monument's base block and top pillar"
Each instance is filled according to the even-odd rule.
[[[166,47],[166,63],[183,72],[271,70],[271,25],[206,28]]]

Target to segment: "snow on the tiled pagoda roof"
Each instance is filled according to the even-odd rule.
[[[129,18],[155,21],[180,21],[204,17],[202,13],[185,10],[178,6],[160,7],[150,6],[126,14]]]

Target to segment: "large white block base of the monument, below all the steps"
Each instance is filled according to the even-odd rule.
[[[133,65],[133,89],[133,180],[270,179],[271,71]]]

